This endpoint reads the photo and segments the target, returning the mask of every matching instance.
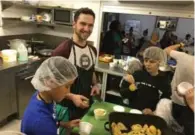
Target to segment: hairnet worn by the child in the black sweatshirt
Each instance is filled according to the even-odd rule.
[[[164,66],[167,63],[166,52],[159,47],[149,47],[143,53],[144,58],[160,60],[160,65]]]

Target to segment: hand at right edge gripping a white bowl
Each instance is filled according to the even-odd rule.
[[[187,105],[194,111],[194,88],[191,88],[186,92],[185,99]]]

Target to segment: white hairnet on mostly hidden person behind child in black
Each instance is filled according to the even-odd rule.
[[[132,59],[127,63],[127,72],[130,74],[133,74],[135,71],[142,70],[143,65],[139,61],[139,59]]]

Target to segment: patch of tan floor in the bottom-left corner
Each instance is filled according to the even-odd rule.
[[[2,131],[20,131],[21,120],[12,120],[3,127],[0,127],[0,132]]]

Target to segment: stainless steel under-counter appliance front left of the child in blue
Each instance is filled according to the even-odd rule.
[[[33,78],[36,70],[41,65],[43,60],[37,60],[29,63],[19,69],[16,72],[15,84],[16,84],[16,94],[17,94],[17,112],[19,119],[22,119],[25,108],[27,107],[32,95],[36,92],[31,84],[31,79]]]

